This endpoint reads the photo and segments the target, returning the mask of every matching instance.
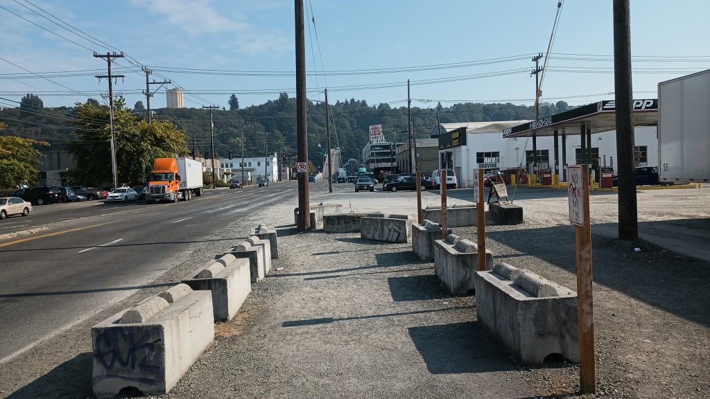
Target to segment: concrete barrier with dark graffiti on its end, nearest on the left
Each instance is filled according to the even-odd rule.
[[[168,291],[92,327],[97,398],[131,387],[143,395],[168,393],[214,340],[212,293],[183,284]]]

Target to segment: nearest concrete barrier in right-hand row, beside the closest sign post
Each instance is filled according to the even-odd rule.
[[[496,265],[476,272],[476,315],[525,366],[550,354],[579,361],[577,293],[529,270]]]

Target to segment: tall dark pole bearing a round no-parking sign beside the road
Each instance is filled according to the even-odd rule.
[[[295,41],[296,41],[296,131],[298,162],[308,164],[308,136],[306,106],[306,55],[305,31],[303,24],[303,0],[294,0],[295,4]],[[308,198],[308,170],[298,173],[298,221],[297,231],[310,228],[310,203]]]

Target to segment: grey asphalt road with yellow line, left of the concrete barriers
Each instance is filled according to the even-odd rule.
[[[197,244],[239,217],[293,200],[296,187],[282,182],[207,190],[177,204],[52,204],[34,207],[29,217],[5,219],[0,223],[0,237],[6,237],[0,238],[0,363],[150,285],[173,266],[200,258],[192,255]],[[41,231],[9,237],[27,229]]]

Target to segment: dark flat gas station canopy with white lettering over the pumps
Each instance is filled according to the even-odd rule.
[[[633,126],[655,126],[657,123],[658,99],[633,100]],[[503,131],[503,138],[525,137],[533,132],[537,137],[553,136],[555,132],[565,136],[574,136],[581,134],[583,129],[591,131],[591,133],[616,129],[614,100],[579,106],[569,111],[513,126]]]

